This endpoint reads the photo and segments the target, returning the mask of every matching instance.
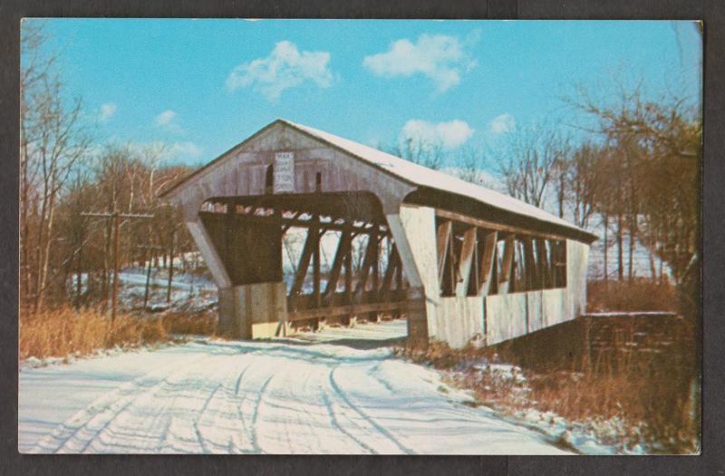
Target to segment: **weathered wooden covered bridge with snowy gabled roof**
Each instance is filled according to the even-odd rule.
[[[219,288],[219,329],[404,315],[412,345],[488,344],[585,310],[589,244],[507,195],[278,119],[164,194]],[[285,281],[283,237],[304,229]],[[323,266],[323,237],[337,238]]]

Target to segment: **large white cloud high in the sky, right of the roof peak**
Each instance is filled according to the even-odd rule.
[[[445,34],[421,34],[415,43],[407,38],[391,43],[387,52],[366,56],[362,64],[386,78],[423,74],[442,92],[459,84],[461,73],[476,65],[465,52],[467,44],[475,41],[474,38],[462,42]]]

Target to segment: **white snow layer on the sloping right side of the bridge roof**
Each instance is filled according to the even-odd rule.
[[[470,182],[466,182],[465,180],[461,180],[455,176],[449,176],[448,174],[444,174],[437,170],[420,166],[419,164],[415,164],[401,157],[395,157],[386,152],[382,152],[382,150],[378,150],[377,148],[364,146],[358,142],[354,142],[353,140],[341,138],[330,134],[329,132],[324,132],[324,130],[313,129],[285,119],[278,120],[294,129],[300,129],[315,138],[320,138],[337,148],[342,148],[354,157],[358,157],[365,162],[369,162],[375,167],[380,167],[391,173],[393,176],[398,176],[403,180],[411,182],[413,185],[426,186],[449,194],[469,196],[481,203],[494,206],[501,210],[506,210],[510,213],[524,215],[542,222],[557,224],[571,230],[591,234],[574,224],[570,224],[564,219],[559,218],[555,214],[549,214],[541,208],[529,205],[526,202],[517,200],[512,196],[498,193],[495,190],[491,190],[490,188],[486,188],[484,186],[471,184]]]

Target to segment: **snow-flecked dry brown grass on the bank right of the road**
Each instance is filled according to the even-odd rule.
[[[495,362],[489,348],[451,349],[433,342],[426,350],[407,348],[403,357],[443,370],[455,370],[451,382],[475,392],[479,403],[507,414],[534,407],[553,412],[570,422],[603,421],[614,417],[629,422],[630,444],[646,443],[652,452],[698,451],[697,395],[692,395],[691,363],[682,349],[666,354],[637,356],[627,366],[603,365],[585,372],[565,369],[535,372],[525,369],[527,380],[518,384],[481,373],[474,364]],[[523,390],[523,391],[522,391]],[[638,441],[641,439],[641,442]]]

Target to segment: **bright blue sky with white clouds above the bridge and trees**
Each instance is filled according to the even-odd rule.
[[[700,93],[691,22],[48,23],[97,138],[165,142],[188,164],[276,118],[369,145],[417,135],[455,151],[531,121],[578,121],[561,100],[575,83],[606,95],[613,77],[641,78],[652,94]]]

